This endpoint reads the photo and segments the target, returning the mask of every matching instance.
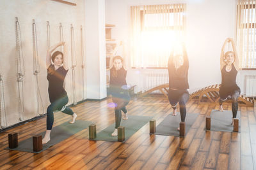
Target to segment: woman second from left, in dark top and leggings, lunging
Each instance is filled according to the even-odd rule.
[[[113,63],[113,64],[112,64]],[[127,120],[127,110],[125,106],[130,101],[129,92],[126,83],[126,73],[124,69],[124,60],[120,56],[115,56],[110,60],[110,80],[109,87],[112,95],[113,103],[115,103],[115,131],[111,136],[117,136],[117,128],[120,126],[122,111],[124,112],[124,120]]]

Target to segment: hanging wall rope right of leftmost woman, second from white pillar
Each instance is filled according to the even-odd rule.
[[[72,89],[73,89],[73,104],[76,105],[76,55],[75,55],[75,42],[74,42],[74,27],[71,24],[71,59],[72,59]]]

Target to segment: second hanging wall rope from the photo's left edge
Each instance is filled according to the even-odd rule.
[[[19,120],[24,120],[24,92],[23,92],[23,77],[25,75],[24,71],[24,57],[22,51],[22,41],[20,24],[18,18],[16,17],[15,22],[15,32],[16,32],[16,62],[17,62],[17,81],[19,85]]]

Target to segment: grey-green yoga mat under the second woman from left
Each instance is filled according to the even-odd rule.
[[[128,115],[128,120],[122,120],[120,126],[125,128],[125,141],[137,132],[141,127],[151,120],[152,117],[142,117],[135,115]],[[97,133],[97,141],[117,141],[117,136],[111,136],[115,130],[115,124],[110,125],[106,129]]]

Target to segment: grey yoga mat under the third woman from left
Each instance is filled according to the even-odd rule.
[[[187,113],[186,119],[185,119],[185,133],[187,134],[191,126],[196,121],[196,118],[198,117],[198,113]],[[177,128],[180,127],[180,113],[177,113],[177,116],[168,115],[164,118],[164,120],[157,125],[156,127],[156,133],[160,135],[166,135],[166,136],[180,136],[180,132],[177,130]]]

